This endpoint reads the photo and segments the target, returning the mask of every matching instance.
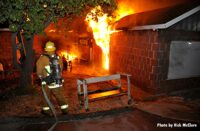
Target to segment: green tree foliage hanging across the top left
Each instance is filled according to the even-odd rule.
[[[44,31],[58,17],[80,14],[96,5],[115,7],[114,0],[1,0],[0,24],[7,23],[13,32],[23,30],[28,38]]]

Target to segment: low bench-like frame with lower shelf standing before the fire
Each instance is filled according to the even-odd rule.
[[[121,77],[125,76],[127,78],[127,90],[122,90],[121,85]],[[101,93],[101,92],[111,92],[111,91],[117,91],[118,93],[111,93],[112,96],[121,96],[121,95],[128,95],[128,104],[131,104],[132,97],[131,97],[131,83],[130,83],[130,77],[129,74],[113,74],[108,76],[99,76],[99,77],[90,77],[85,79],[77,79],[77,91],[78,91],[78,99],[81,105],[84,104],[85,110],[89,110],[89,100],[98,99],[96,97],[90,97],[89,95],[93,95],[95,93]],[[117,81],[117,86],[109,87],[102,90],[94,90],[94,91],[88,91],[88,85],[93,83],[99,83],[99,82],[107,82],[107,81]],[[110,97],[108,96],[102,96],[102,97]]]

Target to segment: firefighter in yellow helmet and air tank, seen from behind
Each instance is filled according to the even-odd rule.
[[[63,114],[67,114],[68,104],[63,95],[63,82],[62,59],[56,54],[55,44],[48,41],[45,45],[45,52],[39,57],[36,63],[36,72],[38,77],[41,79],[42,86],[45,87],[48,98],[53,95]],[[50,115],[50,107],[47,101],[43,99],[41,113]]]

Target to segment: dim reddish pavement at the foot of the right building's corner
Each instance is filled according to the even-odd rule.
[[[200,122],[199,102],[186,102],[182,97],[165,97],[155,101],[138,102],[135,107],[163,118]]]

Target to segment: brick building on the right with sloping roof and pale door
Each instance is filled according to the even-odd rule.
[[[200,87],[200,2],[141,12],[115,23],[110,71],[152,93]]]

